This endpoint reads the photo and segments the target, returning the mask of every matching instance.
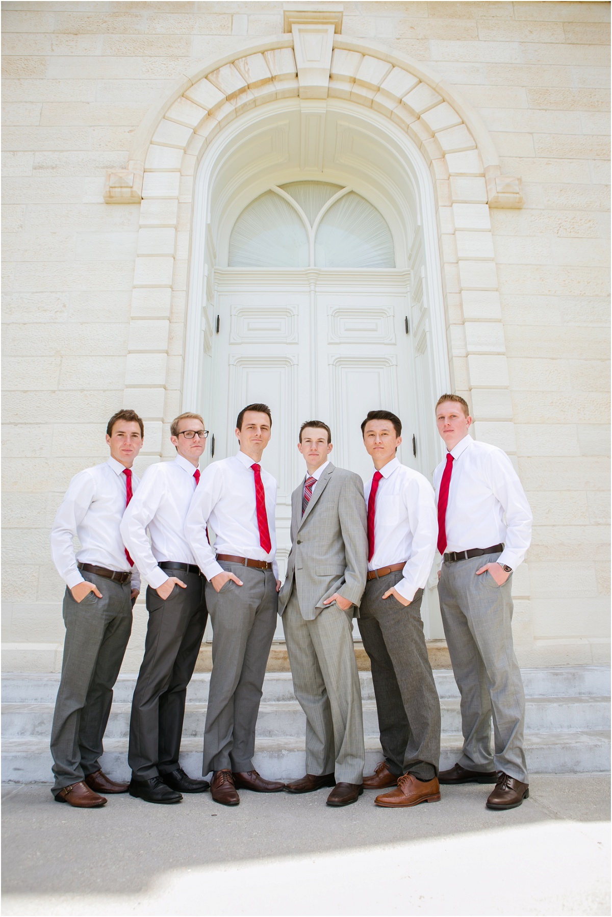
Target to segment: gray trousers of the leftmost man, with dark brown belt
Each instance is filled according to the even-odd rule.
[[[64,594],[66,637],[50,743],[54,796],[100,769],[113,686],[132,629],[129,581],[118,583],[84,571],[82,575],[102,598],[89,592],[82,602],[75,602],[69,589]]]

